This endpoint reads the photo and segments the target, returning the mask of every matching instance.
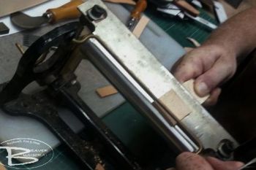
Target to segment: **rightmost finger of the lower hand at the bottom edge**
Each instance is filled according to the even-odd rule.
[[[220,161],[212,157],[207,157],[206,160],[215,170],[238,170],[241,166],[244,166],[244,163],[238,161]]]

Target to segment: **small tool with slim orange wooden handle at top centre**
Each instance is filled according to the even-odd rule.
[[[146,0],[138,0],[135,9],[132,10],[129,21],[127,23],[127,27],[129,28],[129,30],[133,30],[137,21],[140,20],[141,13],[145,11],[146,7]]]

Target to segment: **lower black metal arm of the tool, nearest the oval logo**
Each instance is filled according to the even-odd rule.
[[[75,134],[69,126],[59,117],[53,102],[39,92],[33,96],[22,94],[19,98],[4,104],[4,111],[13,116],[34,117],[44,123],[61,142],[67,145],[73,158],[81,163],[83,169],[94,170],[98,163],[104,163],[94,147]]]

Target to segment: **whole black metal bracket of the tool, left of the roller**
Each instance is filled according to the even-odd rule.
[[[72,40],[80,36],[84,27],[78,22],[67,23],[37,39],[20,58],[12,80],[0,85],[0,105],[10,115],[34,117],[45,123],[86,169],[95,169],[97,163],[101,163],[105,170],[139,170],[140,166],[124,144],[78,96],[80,85],[75,80],[75,70],[62,72],[78,47]],[[38,62],[53,46],[58,47],[56,52],[48,60]],[[33,95],[21,93],[33,81],[48,88]],[[94,134],[101,144],[88,142],[75,134],[59,117],[54,101],[64,101],[65,106],[83,120],[86,131]],[[110,158],[102,158],[106,154]]]

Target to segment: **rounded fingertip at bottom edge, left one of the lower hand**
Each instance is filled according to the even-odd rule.
[[[177,170],[214,170],[200,155],[192,152],[183,152],[176,158]]]

